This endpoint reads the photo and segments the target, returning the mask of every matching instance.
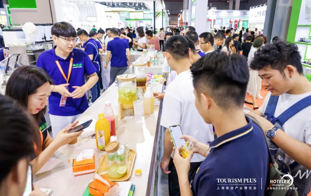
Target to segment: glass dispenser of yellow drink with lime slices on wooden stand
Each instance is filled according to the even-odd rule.
[[[133,101],[137,100],[136,75],[123,74],[117,76],[118,101],[123,109],[133,108]]]

